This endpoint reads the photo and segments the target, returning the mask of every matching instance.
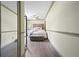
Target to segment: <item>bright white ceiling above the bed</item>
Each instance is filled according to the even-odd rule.
[[[26,1],[25,14],[28,19],[38,17],[44,19],[51,1]]]

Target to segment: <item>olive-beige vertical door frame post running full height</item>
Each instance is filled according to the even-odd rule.
[[[17,56],[25,53],[24,47],[24,1],[17,1]]]

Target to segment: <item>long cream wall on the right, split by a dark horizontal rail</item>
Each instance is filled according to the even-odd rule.
[[[46,29],[79,34],[79,2],[55,2],[46,18]],[[61,56],[79,56],[79,37],[47,32]]]

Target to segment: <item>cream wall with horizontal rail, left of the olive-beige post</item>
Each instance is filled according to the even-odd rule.
[[[1,47],[4,47],[17,39],[16,31],[17,15],[1,6]]]

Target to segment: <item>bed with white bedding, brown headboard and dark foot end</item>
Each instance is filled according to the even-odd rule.
[[[29,37],[31,41],[46,40],[48,37],[44,24],[33,24]]]

